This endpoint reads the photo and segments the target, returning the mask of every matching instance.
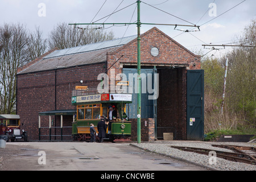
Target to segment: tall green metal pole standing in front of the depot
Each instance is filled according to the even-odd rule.
[[[141,143],[141,1],[138,3],[138,97],[137,97],[137,143]]]

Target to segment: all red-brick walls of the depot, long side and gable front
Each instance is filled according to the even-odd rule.
[[[177,127],[177,138],[185,139],[186,67],[187,69],[200,69],[200,57],[189,52],[158,28],[151,28],[142,34],[141,38],[142,64],[183,65],[183,68],[175,68],[173,71],[158,69],[162,76],[160,86],[162,96],[159,94],[158,101],[158,125],[174,125]],[[152,47],[159,48],[158,56],[151,55]],[[122,55],[123,57],[113,65]],[[76,85],[97,86],[99,83],[97,81],[98,74],[104,73],[112,65],[112,68],[115,69],[115,75],[117,75],[122,72],[121,64],[137,64],[137,40],[117,48],[114,52],[107,53],[106,60],[107,64],[91,64],[17,75],[17,114],[20,114],[21,122],[24,123],[23,128],[28,131],[29,140],[38,139],[39,112],[75,109],[75,106],[71,105],[71,95]],[[27,67],[28,65],[24,68]],[[108,75],[109,78],[115,77],[115,75],[110,75],[110,71],[108,71]],[[83,80],[83,84],[80,83],[80,80]],[[166,100],[167,95],[171,97]],[[167,105],[163,103],[167,103]],[[168,117],[170,115],[172,119]],[[58,122],[58,119],[56,120]],[[148,121],[150,121],[149,123],[152,122],[150,119]],[[48,117],[42,117],[42,126],[48,126]],[[137,124],[133,126],[137,128]],[[146,129],[144,133],[148,134],[147,137],[143,137],[147,140],[152,135],[150,134],[152,133],[151,128]],[[152,137],[149,137],[148,140],[152,140]]]

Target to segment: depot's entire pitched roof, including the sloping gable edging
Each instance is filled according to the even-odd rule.
[[[150,30],[144,32],[144,34],[141,35],[141,38],[143,38],[143,36],[146,36],[147,34],[150,34],[154,30],[166,36],[166,38],[170,39],[177,46],[181,47],[182,49],[184,49],[184,51],[187,51],[192,56],[200,57],[189,51],[187,48],[181,46],[181,44],[177,43],[174,39],[170,38],[170,36],[164,34],[156,27],[153,27]],[[55,48],[38,57],[37,59],[31,61],[30,63],[24,65],[24,67],[18,68],[17,75],[75,67],[86,64],[103,63],[106,61],[106,53],[109,52],[114,54],[120,51],[122,48],[125,48],[130,44],[136,42],[136,38],[137,35],[133,35],[126,38],[119,38],[99,43],[87,44],[79,47],[71,47],[60,50]]]

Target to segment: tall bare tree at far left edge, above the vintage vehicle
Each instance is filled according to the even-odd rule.
[[[21,24],[0,27],[0,112],[3,114],[14,111],[16,73],[26,61],[27,43],[27,31]]]

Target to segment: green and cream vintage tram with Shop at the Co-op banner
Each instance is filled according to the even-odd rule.
[[[89,94],[72,97],[72,105],[76,105],[77,114],[72,123],[73,140],[90,140],[90,124],[94,125],[96,133],[100,116],[109,118],[109,111],[113,108],[117,117],[109,121],[105,139],[114,142],[131,139],[131,122],[126,115],[126,104],[132,102],[131,94]],[[110,108],[112,107],[112,108]],[[97,140],[97,137],[96,137]]]

